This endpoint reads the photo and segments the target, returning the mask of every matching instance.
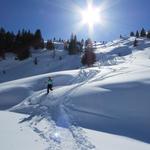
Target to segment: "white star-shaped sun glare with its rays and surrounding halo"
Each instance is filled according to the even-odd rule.
[[[87,6],[85,9],[83,9],[83,7],[81,8],[76,6],[76,11],[80,15],[80,20],[78,20],[78,23],[76,24],[76,32],[81,31],[84,26],[87,26],[88,36],[93,37],[94,31],[96,31],[98,28],[104,29],[109,25],[107,13],[105,13],[108,7],[108,3],[106,3],[105,1],[103,3],[100,3],[99,5],[94,5],[93,0],[86,1]]]

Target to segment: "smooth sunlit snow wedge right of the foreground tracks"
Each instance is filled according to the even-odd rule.
[[[104,132],[97,132],[94,130],[84,129],[89,140],[96,145],[96,150],[106,149],[106,150],[149,150],[149,144],[145,144],[133,139],[126,137],[112,135]]]

